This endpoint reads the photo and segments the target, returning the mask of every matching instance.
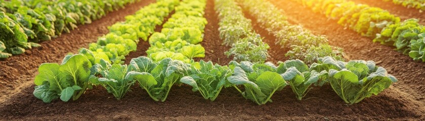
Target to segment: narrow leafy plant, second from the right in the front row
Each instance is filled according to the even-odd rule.
[[[281,63],[277,70],[283,79],[289,82],[298,100],[301,100],[306,95],[310,85],[317,83],[319,80],[319,73],[314,70],[310,71],[308,66],[299,59]]]

